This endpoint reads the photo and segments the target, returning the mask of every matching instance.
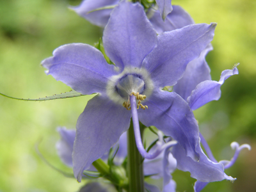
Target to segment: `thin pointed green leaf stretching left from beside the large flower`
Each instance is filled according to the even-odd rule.
[[[83,94],[76,92],[74,90],[71,90],[70,92],[60,93],[60,94],[54,94],[52,96],[45,96],[38,99],[20,99],[17,97],[11,97],[8,95],[5,95],[4,93],[0,93],[0,95],[3,95],[4,97],[8,97],[10,99],[16,99],[16,100],[27,100],[27,101],[42,101],[42,100],[54,100],[54,99],[67,99],[72,97],[80,97],[84,96]]]

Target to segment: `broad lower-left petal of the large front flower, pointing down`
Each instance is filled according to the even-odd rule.
[[[77,120],[73,150],[74,175],[81,181],[83,170],[111,148],[127,131],[131,111],[97,95],[89,100]]]

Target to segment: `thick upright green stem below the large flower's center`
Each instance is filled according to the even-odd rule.
[[[142,136],[141,132],[141,136]],[[129,192],[144,191],[144,175],[143,175],[143,157],[136,146],[133,124],[131,120],[130,128],[127,131],[127,174],[129,179]]]

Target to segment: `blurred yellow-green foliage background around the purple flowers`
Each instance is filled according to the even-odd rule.
[[[68,86],[46,76],[40,62],[63,44],[93,45],[102,29],[93,26],[65,0],[0,1],[0,92],[20,98],[38,98],[67,92]],[[226,171],[237,177],[223,180],[203,191],[255,191],[256,189],[256,1],[252,0],[173,0],[187,10],[196,23],[217,22],[207,56],[212,79],[222,70],[240,63],[239,75],[221,87],[221,99],[195,111],[200,131],[216,159],[230,159],[232,141],[249,143],[236,164]],[[23,102],[0,97],[0,191],[77,191],[83,186],[47,166],[35,152],[42,140],[42,154],[61,170],[72,173],[56,154],[59,136],[56,127],[74,128],[79,114],[91,97],[48,102]],[[177,191],[193,191],[195,179],[176,171]]]

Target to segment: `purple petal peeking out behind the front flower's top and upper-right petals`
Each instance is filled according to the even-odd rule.
[[[154,15],[149,20],[158,34],[195,24],[194,20],[181,6],[173,5],[172,7],[173,10],[167,15],[165,21],[161,18],[159,11],[150,10],[150,12],[154,12],[152,13]]]

